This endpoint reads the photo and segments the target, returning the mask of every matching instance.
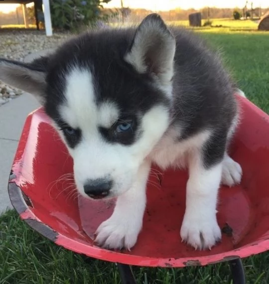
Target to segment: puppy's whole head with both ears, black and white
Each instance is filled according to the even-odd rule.
[[[31,65],[0,60],[0,79],[38,96],[73,157],[78,191],[115,197],[168,127],[174,49],[150,15],[136,30],[85,34]]]

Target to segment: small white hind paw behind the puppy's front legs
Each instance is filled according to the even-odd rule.
[[[221,183],[228,186],[234,186],[241,182],[242,168],[239,163],[231,157],[226,156],[222,165]]]

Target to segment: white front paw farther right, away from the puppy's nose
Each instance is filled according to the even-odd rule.
[[[201,217],[185,215],[180,230],[182,241],[195,250],[211,250],[221,240],[221,230],[216,216]]]

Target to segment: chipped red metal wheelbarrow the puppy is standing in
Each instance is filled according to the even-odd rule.
[[[124,284],[135,283],[131,265],[182,268],[226,261],[233,283],[244,284],[241,259],[269,250],[269,116],[247,99],[238,100],[242,122],[231,155],[242,165],[243,179],[220,189],[222,242],[211,251],[195,251],[180,240],[187,172],[159,169],[148,181],[143,229],[132,251],[96,246],[94,232],[114,204],[77,195],[72,158],[42,108],[29,114],[22,131],[8,184],[12,205],[21,219],[57,245],[117,263]]]

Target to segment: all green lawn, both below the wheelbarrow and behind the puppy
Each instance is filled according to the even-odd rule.
[[[198,29],[251,101],[269,113],[269,33]],[[0,216],[0,284],[118,284],[114,264],[88,260],[58,247],[20,221],[14,211]],[[248,284],[269,283],[269,252],[243,260]],[[134,267],[138,284],[231,284],[226,263],[205,268]],[[145,276],[146,274],[146,276]]]

